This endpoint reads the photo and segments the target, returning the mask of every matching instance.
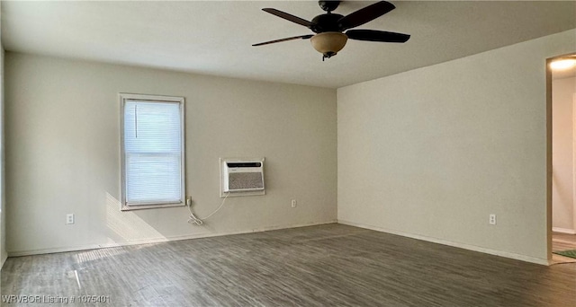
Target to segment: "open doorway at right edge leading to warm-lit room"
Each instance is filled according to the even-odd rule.
[[[576,250],[576,54],[547,61],[548,98],[548,258],[576,262],[554,254]]]

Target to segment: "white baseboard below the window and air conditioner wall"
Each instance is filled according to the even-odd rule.
[[[223,235],[232,235],[232,234],[242,234],[242,233],[252,233],[252,232],[269,232],[269,231],[280,230],[280,229],[299,228],[299,227],[308,227],[308,226],[316,226],[316,225],[322,225],[322,224],[335,224],[335,223],[337,223],[336,220],[331,220],[328,222],[313,222],[313,223],[304,223],[304,224],[266,226],[266,227],[261,227],[261,228],[256,228],[256,229],[233,231],[233,232],[206,232],[206,233],[194,233],[194,234],[168,236],[168,237],[162,237],[162,238],[150,238],[150,239],[144,239],[144,240],[80,245],[80,246],[54,248],[54,249],[16,250],[16,251],[8,251],[8,257],[31,256],[31,255],[51,254],[51,253],[56,253],[56,252],[78,251],[78,250],[97,250],[97,249],[105,249],[105,248],[120,247],[120,246],[159,243],[159,242],[166,242],[166,241],[181,241],[181,240],[190,240],[190,239],[219,237],[219,236],[223,236]]]

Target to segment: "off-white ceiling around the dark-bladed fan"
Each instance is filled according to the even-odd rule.
[[[347,1],[346,15],[374,2]],[[576,2],[392,1],[396,9],[356,29],[411,34],[405,44],[348,40],[322,62],[311,33],[261,11],[307,20],[315,1],[2,1],[4,48],[208,75],[338,88],[576,28]],[[575,47],[576,50],[576,47]]]

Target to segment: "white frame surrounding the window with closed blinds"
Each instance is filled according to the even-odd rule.
[[[184,143],[184,97],[178,96],[162,96],[162,95],[148,95],[148,94],[134,94],[120,92],[118,94],[120,101],[120,156],[121,156],[121,211],[139,210],[139,209],[154,209],[154,208],[164,208],[173,206],[185,206],[186,190],[185,190],[185,143]],[[139,204],[128,204],[126,201],[126,152],[124,143],[124,108],[126,102],[128,101],[149,101],[155,103],[178,103],[180,106],[180,184],[181,184],[181,196],[179,202],[170,203],[139,203]]]

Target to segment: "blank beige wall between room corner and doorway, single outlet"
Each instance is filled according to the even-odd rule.
[[[338,89],[338,221],[545,263],[545,60],[574,49],[565,31]]]

